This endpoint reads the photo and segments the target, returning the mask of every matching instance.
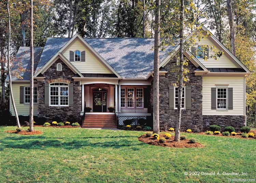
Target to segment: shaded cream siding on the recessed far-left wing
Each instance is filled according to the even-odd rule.
[[[29,86],[29,83],[13,83],[13,98],[15,106],[18,112],[18,115],[28,116],[29,115],[29,104],[20,104],[19,103],[19,86]],[[37,85],[35,85],[36,87]],[[37,116],[38,104],[34,104],[34,116]],[[13,105],[11,103],[11,113],[14,116]]]

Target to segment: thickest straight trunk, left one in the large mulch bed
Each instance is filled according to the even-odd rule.
[[[154,90],[153,90],[153,133],[160,133],[159,129],[159,47],[160,47],[160,4],[156,0],[155,9],[155,45],[154,45]]]

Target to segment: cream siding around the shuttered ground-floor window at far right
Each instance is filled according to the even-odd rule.
[[[211,88],[233,88],[233,110],[211,110]],[[203,115],[244,115],[244,77],[203,77]]]

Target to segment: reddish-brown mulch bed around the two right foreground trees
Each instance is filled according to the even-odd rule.
[[[160,134],[160,137],[166,138],[164,134]],[[145,135],[141,135],[139,138],[139,141],[144,142],[149,145],[155,145],[155,146],[162,146],[162,147],[173,147],[173,148],[191,148],[191,147],[204,147],[200,143],[189,143],[188,139],[180,140],[180,142],[174,141],[174,136],[171,136],[171,138],[166,139],[166,142],[159,143],[158,140],[154,139],[153,137],[146,137]]]

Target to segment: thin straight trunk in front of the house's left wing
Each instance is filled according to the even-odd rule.
[[[34,131],[34,48],[33,48],[33,0],[30,0],[30,103],[29,103],[29,131]]]

